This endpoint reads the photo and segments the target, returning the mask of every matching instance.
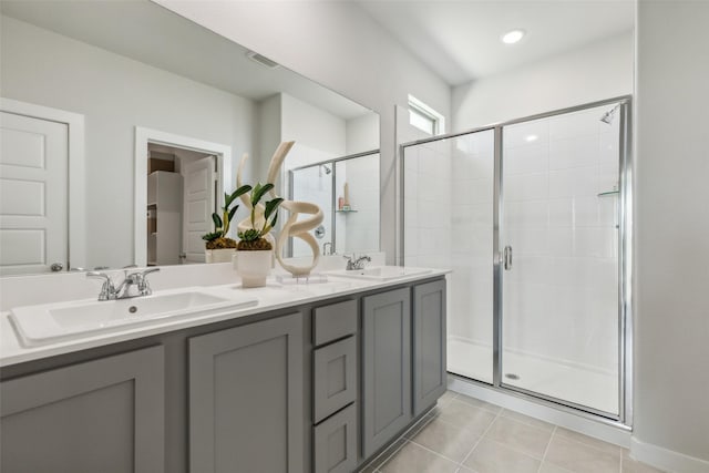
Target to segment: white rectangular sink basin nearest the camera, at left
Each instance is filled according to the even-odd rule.
[[[27,346],[75,338],[81,333],[121,330],[167,318],[204,316],[256,306],[250,296],[219,297],[187,289],[120,300],[80,300],[12,309],[10,320]]]

